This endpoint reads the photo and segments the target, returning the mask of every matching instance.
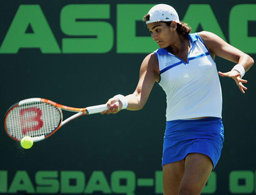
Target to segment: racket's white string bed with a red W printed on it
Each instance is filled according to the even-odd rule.
[[[61,121],[61,112],[47,103],[25,103],[13,108],[6,117],[9,135],[39,137],[54,131]]]

